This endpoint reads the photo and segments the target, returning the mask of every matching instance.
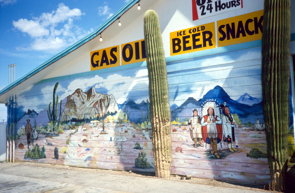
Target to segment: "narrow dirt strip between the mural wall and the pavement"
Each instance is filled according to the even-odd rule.
[[[11,167],[11,166],[19,166],[19,165],[49,167],[49,168],[55,168],[55,169],[71,169],[71,170],[78,170],[78,171],[97,172],[97,173],[103,173],[103,174],[115,174],[115,175],[122,175],[122,176],[155,177],[154,173],[142,173],[142,172],[129,173],[129,171],[118,171],[118,170],[96,169],[96,168],[94,169],[94,168],[84,168],[84,167],[66,166],[66,165],[58,165],[58,164],[25,162],[25,161],[15,161],[14,164],[1,162],[0,169],[6,168],[6,167]],[[219,180],[214,180],[214,179],[201,179],[201,178],[193,178],[193,177],[189,180],[186,180],[185,176],[184,176],[184,179],[181,180],[181,176],[173,175],[173,174],[171,174],[169,180],[186,181],[189,183],[206,184],[206,185],[213,185],[213,186],[220,186],[220,187],[251,189],[251,190],[260,190],[260,191],[261,190],[265,190],[265,191],[269,190],[268,186],[258,185],[258,184],[226,182],[226,181],[219,181]]]

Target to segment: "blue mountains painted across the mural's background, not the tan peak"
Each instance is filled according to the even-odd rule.
[[[189,97],[179,107],[176,104],[171,105],[171,121],[175,120],[176,118],[180,118],[181,120],[190,118],[192,116],[193,109],[198,108],[200,110],[202,103],[210,99],[216,100],[218,104],[226,101],[226,105],[229,106],[231,113],[237,114],[242,123],[254,123],[257,118],[260,119],[260,122],[263,122],[263,105],[257,98],[253,98],[245,93],[238,100],[233,100],[223,90],[223,88],[218,85],[215,86],[214,89],[209,90],[200,100]],[[65,108],[66,98],[63,99],[62,103],[63,110]],[[118,109],[122,109],[123,111],[128,110],[128,113],[130,113],[130,122],[134,122],[136,124],[142,123],[142,118],[145,120],[145,117],[148,113],[148,108],[150,108],[150,104],[148,105],[148,103],[145,101],[142,101],[141,103],[135,103],[133,100],[127,100],[124,103],[117,105]],[[37,123],[39,124],[47,124],[49,121],[47,109],[41,111],[39,114],[34,110],[28,110],[28,112],[24,113],[19,119],[18,123],[25,124],[25,120],[28,117],[36,119]],[[32,119],[31,122],[33,122]]]

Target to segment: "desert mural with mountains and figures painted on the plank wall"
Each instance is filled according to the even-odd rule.
[[[260,57],[251,48],[167,63],[171,173],[270,182]],[[154,172],[147,73],[77,75],[24,90],[16,159]]]

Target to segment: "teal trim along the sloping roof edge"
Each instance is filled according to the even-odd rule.
[[[61,51],[57,55],[53,56],[50,58],[47,62],[44,62],[31,72],[29,72],[27,75],[24,75],[20,79],[16,80],[15,82],[11,83],[10,85],[6,86],[4,89],[0,91],[0,95],[3,95],[7,91],[11,90],[15,86],[19,85],[20,83],[24,82],[28,78],[32,77],[33,75],[37,74],[44,68],[48,67],[49,65],[53,64],[54,62],[58,61],[59,59],[63,58],[64,56],[68,55],[72,51],[76,50],[77,48],[81,47],[82,45],[86,44],[89,42],[91,39],[97,37],[100,33],[102,33],[107,27],[109,27],[113,22],[115,22],[121,15],[123,15],[126,11],[128,11],[132,6],[137,4],[140,0],[130,0],[127,2],[117,13],[112,15],[104,24],[101,25],[98,29],[96,29],[94,32],[89,34],[88,36],[84,37],[80,41],[74,43],[70,47],[66,48],[65,50]]]

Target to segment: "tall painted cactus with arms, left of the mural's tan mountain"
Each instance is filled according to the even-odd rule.
[[[47,110],[47,116],[50,122],[53,122],[53,127],[56,125],[56,120],[57,120],[57,111],[58,111],[58,95],[56,95],[56,103],[55,103],[55,92],[58,87],[58,82],[54,85],[53,88],[53,104],[52,104],[52,111],[50,112],[50,105],[51,102],[48,105],[48,110]],[[59,109],[59,119],[58,119],[58,125],[59,127],[60,124],[60,119],[61,119],[61,105],[62,105],[62,100],[60,100],[60,109]]]

